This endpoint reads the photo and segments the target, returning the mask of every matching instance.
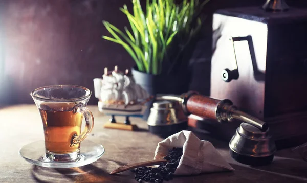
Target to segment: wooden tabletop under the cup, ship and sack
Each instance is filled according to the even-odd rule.
[[[105,129],[108,120],[89,106],[95,118],[92,134],[87,137],[105,147],[105,154],[98,161],[79,168],[51,169],[34,166],[18,155],[20,147],[43,140],[43,128],[35,105],[15,105],[0,109],[0,182],[136,182],[134,173],[126,171],[117,175],[109,172],[127,163],[153,159],[157,143],[162,138],[148,132],[140,118],[131,118],[141,130],[123,131]],[[117,117],[118,121],[124,120]],[[307,162],[301,160],[291,149],[275,154],[272,164],[250,167],[234,161],[229,155],[228,143],[211,138],[203,132],[194,134],[212,142],[218,152],[235,169],[234,172],[180,176],[164,182],[307,182]],[[82,147],[82,146],[81,146]]]

